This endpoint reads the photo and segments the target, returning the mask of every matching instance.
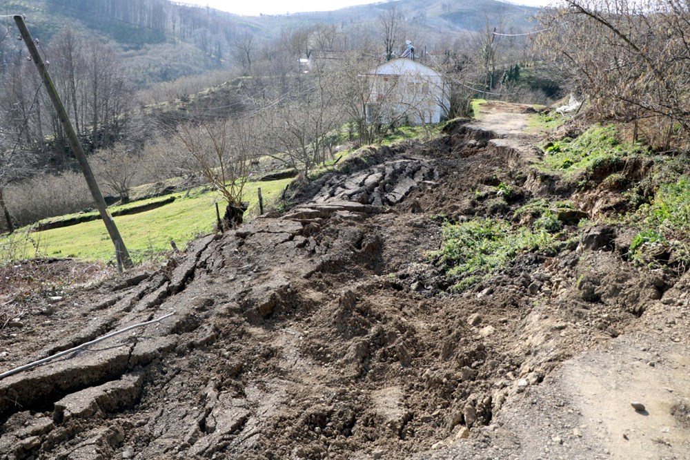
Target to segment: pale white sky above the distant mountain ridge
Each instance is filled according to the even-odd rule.
[[[337,10],[346,6],[376,3],[374,0],[182,0],[183,3],[194,3],[210,6],[217,10],[233,12],[237,15],[258,16],[284,15],[287,12]],[[380,1],[380,0],[377,0]],[[513,0],[511,3],[522,5],[544,6],[552,0]]]

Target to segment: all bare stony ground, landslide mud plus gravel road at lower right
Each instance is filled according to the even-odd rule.
[[[71,281],[0,291],[0,372],[173,315],[1,379],[0,457],[690,458],[690,276],[606,226],[462,294],[426,257],[440,216],[501,212],[486,184],[562,193],[527,111],[365,152],[164,267],[38,264]]]

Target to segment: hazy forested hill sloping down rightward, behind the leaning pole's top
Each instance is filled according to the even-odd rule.
[[[32,37],[48,47],[67,27],[107,41],[121,50],[139,87],[226,67],[237,37],[261,33],[236,15],[168,0],[0,0],[0,11],[25,15]],[[2,20],[16,32],[11,17]],[[12,52],[26,50],[14,40],[0,42],[1,60]]]

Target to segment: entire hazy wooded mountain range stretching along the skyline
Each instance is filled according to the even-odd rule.
[[[329,23],[341,30],[359,28],[376,45],[379,17],[393,7],[427,44],[486,27],[529,30],[529,19],[538,11],[495,0],[398,0],[331,12],[243,17],[168,0],[0,0],[1,14],[26,15],[32,35],[43,43],[71,27],[120,48],[139,88],[234,65],[235,45],[247,35],[266,44],[284,30]],[[12,33],[11,17],[3,21]],[[8,42],[0,43],[0,59],[9,59],[10,48],[18,49]]]

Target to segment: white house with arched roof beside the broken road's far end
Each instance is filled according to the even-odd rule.
[[[399,57],[363,76],[369,80],[362,95],[369,123],[438,123],[448,113],[450,88],[424,64]]]

